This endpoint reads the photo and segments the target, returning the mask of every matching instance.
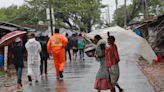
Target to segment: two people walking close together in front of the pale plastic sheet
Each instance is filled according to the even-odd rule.
[[[119,92],[123,92],[123,89],[118,84],[118,63],[120,58],[115,44],[115,37],[111,36],[109,32],[107,35],[107,44],[100,35],[96,35],[92,40],[92,42],[96,44],[95,58],[100,63],[94,87],[98,92],[108,89],[110,89],[111,92],[116,92],[115,87],[119,89]]]

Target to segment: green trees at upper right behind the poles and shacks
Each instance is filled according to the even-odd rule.
[[[147,7],[148,7],[148,16],[157,16],[156,14],[156,7],[162,8],[164,6],[164,1],[162,0],[147,0]],[[124,25],[124,18],[125,18],[125,7],[121,6],[114,13],[114,22],[119,25]],[[164,14],[163,9],[159,9],[160,14]],[[139,21],[139,17],[142,16],[143,9],[142,9],[142,0],[133,0],[132,4],[127,6],[127,24],[132,22]],[[137,19],[137,20],[136,20]]]

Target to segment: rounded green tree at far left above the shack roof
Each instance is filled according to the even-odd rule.
[[[39,18],[43,18],[43,13],[39,15],[36,9],[29,8],[27,5],[10,6],[0,9],[0,21],[6,21],[16,24],[36,24]],[[43,18],[45,19],[45,18]]]

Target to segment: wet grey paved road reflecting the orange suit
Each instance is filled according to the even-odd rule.
[[[48,72],[48,79],[25,85],[23,92],[96,92],[94,81],[99,63],[86,57],[85,62],[67,62],[64,79],[56,80],[54,69]],[[154,92],[146,77],[133,60],[122,59],[119,84],[124,92]],[[110,91],[103,91],[110,92]]]

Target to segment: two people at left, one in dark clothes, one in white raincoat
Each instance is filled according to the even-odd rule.
[[[43,62],[43,60],[41,60],[43,59],[41,53],[43,52],[40,42],[35,39],[34,34],[30,34],[28,35],[28,41],[24,46],[22,39],[17,37],[12,48],[12,56],[14,58],[13,64],[17,74],[17,89],[22,88],[25,49],[27,51],[27,77],[29,84],[32,85],[32,79],[35,79],[35,82],[37,83],[39,76],[43,74],[43,64],[41,64]],[[47,61],[45,62],[47,63]],[[45,67],[45,74],[47,74],[46,68],[47,67]]]

